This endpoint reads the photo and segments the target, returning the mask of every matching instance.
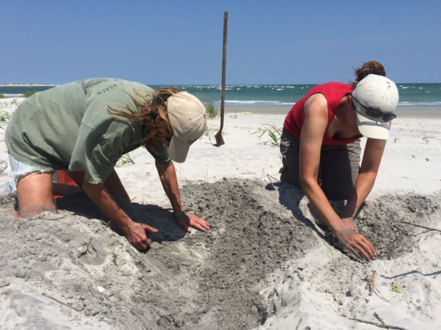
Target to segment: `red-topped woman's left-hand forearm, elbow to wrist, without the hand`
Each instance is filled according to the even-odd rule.
[[[302,180],[302,188],[318,216],[332,231],[344,226],[340,217],[330,206],[328,199],[315,178]]]

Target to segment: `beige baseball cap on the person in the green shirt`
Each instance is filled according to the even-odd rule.
[[[190,146],[207,127],[205,107],[196,96],[179,92],[167,99],[167,114],[173,130],[169,155],[174,162],[183,163]]]

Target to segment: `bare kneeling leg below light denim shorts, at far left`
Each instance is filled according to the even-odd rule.
[[[17,183],[17,199],[18,213],[25,219],[45,211],[56,212],[52,197],[52,175],[36,173],[20,177]]]

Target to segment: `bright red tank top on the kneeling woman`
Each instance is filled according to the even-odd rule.
[[[304,103],[314,94],[321,93],[325,96],[326,101],[328,101],[328,127],[326,127],[325,135],[323,136],[322,147],[328,145],[345,145],[356,141],[362,135],[352,138],[351,140],[333,140],[329,137],[328,130],[330,122],[337,111],[340,101],[343,97],[351,94],[353,87],[351,85],[342,84],[341,82],[328,82],[322,85],[316,85],[312,87],[308,94],[304,96],[303,99],[297,101],[293,108],[290,110],[285,119],[285,124],[283,128],[288,131],[288,133],[293,134],[300,138],[300,132],[302,131],[302,126],[304,122]]]

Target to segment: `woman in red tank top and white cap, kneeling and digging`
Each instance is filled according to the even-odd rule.
[[[360,259],[376,252],[354,218],[372,190],[398,103],[398,89],[378,62],[356,70],[352,85],[328,82],[309,90],[286,116],[281,182],[303,189],[332,232]],[[360,137],[367,137],[360,167]],[[328,199],[347,199],[337,215]]]

